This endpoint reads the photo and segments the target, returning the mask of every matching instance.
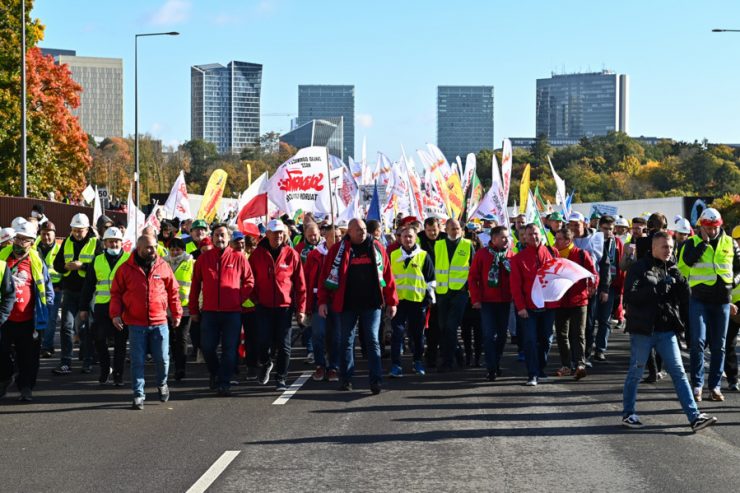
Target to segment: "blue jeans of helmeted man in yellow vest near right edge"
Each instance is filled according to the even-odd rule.
[[[704,349],[709,336],[709,389],[719,389],[725,366],[725,339],[730,323],[730,304],[704,303],[691,298],[689,325],[691,326],[691,384],[704,386]]]

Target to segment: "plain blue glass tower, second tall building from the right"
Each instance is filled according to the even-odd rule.
[[[437,87],[437,147],[449,162],[493,149],[493,86]]]

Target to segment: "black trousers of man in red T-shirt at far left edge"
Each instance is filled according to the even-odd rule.
[[[33,389],[39,373],[41,337],[33,319],[26,322],[8,320],[0,327],[0,381],[10,380],[17,368],[18,389]]]

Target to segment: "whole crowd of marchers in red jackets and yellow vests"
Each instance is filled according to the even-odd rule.
[[[554,212],[544,223],[541,229],[517,215],[508,229],[493,216],[468,224],[406,217],[395,238],[385,238],[377,221],[337,225],[311,214],[300,225],[284,216],[247,235],[226,223],[163,220],[126,252],[125,225],[102,216],[93,227],[77,214],[58,241],[54,223],[35,206],[0,231],[0,397],[15,380],[19,400],[33,399],[39,359],[57,352],[60,311],[53,373],[73,371],[78,340],[81,371],[97,364],[101,384],[121,386],[128,345],[135,409],[144,407],[149,357],[163,402],[170,360],[180,381],[188,360],[201,355],[220,396],[231,394],[242,360],[246,379],[265,385],[274,378],[277,390],[287,389],[293,319],[315,364],[313,379],[339,390],[352,389],[359,335],[373,394],[381,392],[386,326],[391,378],[483,366],[495,381],[510,334],[530,387],[585,378],[607,360],[619,328],[631,343],[622,423],[642,426],[638,383],[668,374],[692,429],[713,424],[697,403],[724,400],[723,375],[727,390],[739,390],[740,226],[728,234],[711,208],[695,225],[680,217],[669,224],[660,213],[628,222]],[[540,307],[533,285],[557,258],[591,277]],[[560,362],[548,375],[554,340]],[[412,355],[411,368],[403,353]]]

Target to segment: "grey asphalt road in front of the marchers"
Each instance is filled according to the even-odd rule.
[[[143,412],[128,387],[55,377],[42,360],[33,403],[0,400],[0,490],[186,491],[238,451],[209,491],[738,491],[740,394],[703,403],[719,423],[694,434],[670,379],[641,385],[646,426],[623,428],[627,342],[614,333],[609,360],[580,382],[525,387],[507,346],[495,383],[482,369],[407,374],[372,396],[360,361],[354,391],[309,380],[285,405],[255,383],[215,397],[205,365],[190,364],[170,402],[148,387]],[[291,369],[289,383],[311,370]]]

